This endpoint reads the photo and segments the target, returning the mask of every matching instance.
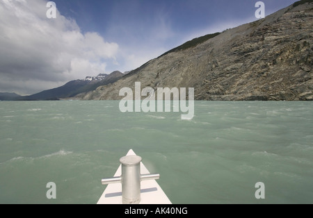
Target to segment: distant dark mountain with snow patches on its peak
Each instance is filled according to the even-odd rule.
[[[26,97],[17,97],[15,100],[34,101],[34,100],[58,100],[74,97],[81,92],[89,92],[95,90],[101,85],[114,83],[122,78],[124,74],[115,71],[111,74],[99,74],[98,76],[87,76],[85,79],[70,81],[61,87],[56,87],[51,90],[45,90],[37,94],[32,94]]]

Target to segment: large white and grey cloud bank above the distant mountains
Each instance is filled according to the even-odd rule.
[[[0,92],[33,94],[72,79],[106,71],[118,44],[81,33],[57,12],[48,19],[45,0],[0,1]]]

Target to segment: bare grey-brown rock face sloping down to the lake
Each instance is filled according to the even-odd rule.
[[[194,87],[195,100],[313,100],[313,3],[273,15],[163,56],[78,99],[120,100],[122,87]],[[192,42],[192,41],[191,41]],[[143,97],[142,99],[144,99]]]

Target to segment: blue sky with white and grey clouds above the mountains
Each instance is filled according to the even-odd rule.
[[[264,0],[266,15],[296,0]],[[255,21],[256,0],[0,0],[0,92],[34,94],[129,71],[180,44]]]

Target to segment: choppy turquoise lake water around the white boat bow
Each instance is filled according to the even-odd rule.
[[[313,203],[313,102],[195,101],[191,120],[118,106],[1,101],[0,203],[97,203],[129,149],[172,203]]]

